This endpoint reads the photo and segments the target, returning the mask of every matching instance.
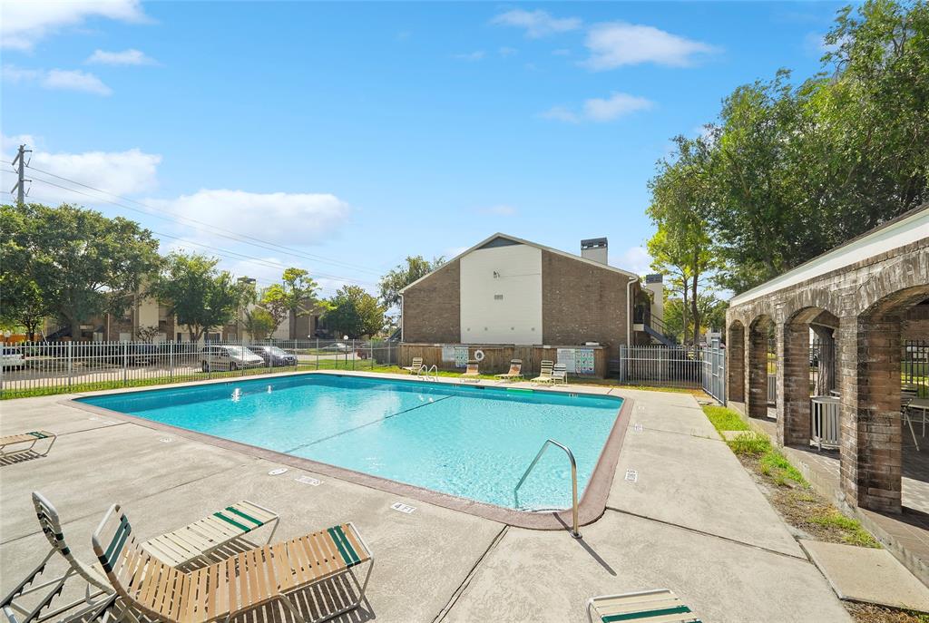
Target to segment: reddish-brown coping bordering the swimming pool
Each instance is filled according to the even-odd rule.
[[[409,377],[403,377],[401,375],[393,374],[381,374],[373,372],[363,372],[363,371],[353,371],[353,370],[313,370],[313,371],[303,371],[303,372],[294,372],[291,374],[274,374],[268,375],[268,378],[281,378],[283,376],[306,376],[309,374],[325,374],[328,376],[348,376],[348,377],[363,377],[363,378],[373,378],[373,379],[390,379],[394,381],[405,381],[407,383],[444,383],[451,384],[454,386],[461,386],[458,383],[457,379],[445,380],[439,377],[438,381],[414,381]],[[200,386],[207,384],[216,384],[216,383],[236,383],[242,381],[252,381],[260,380],[262,377],[236,377],[236,378],[223,378],[209,381],[194,381],[191,383],[171,383],[166,385],[157,385],[153,387],[146,388],[125,388],[120,390],[103,390],[98,392],[85,392],[76,394],[74,396],[78,397],[90,397],[90,396],[111,396],[114,394],[126,394],[126,393],[136,393],[136,392],[147,392],[155,389],[164,389],[164,388],[178,388],[185,386]],[[473,383],[469,383],[469,386],[475,386]],[[483,385],[484,387],[506,387],[507,385]],[[585,391],[588,390],[588,391]],[[629,425],[630,416],[632,414],[632,405],[634,403],[633,398],[629,396],[622,396],[620,394],[612,393],[603,393],[597,391],[589,391],[591,388],[584,388],[582,386],[570,386],[569,392],[571,394],[585,395],[585,396],[611,396],[622,398],[622,405],[619,409],[619,412],[616,415],[616,421],[613,422],[613,426],[610,429],[607,440],[603,445],[603,448],[600,450],[600,455],[597,458],[594,471],[591,474],[590,480],[587,483],[587,487],[584,488],[581,500],[578,502],[578,523],[581,526],[587,526],[594,523],[599,519],[607,508],[607,499],[609,496],[609,489],[612,486],[613,478],[616,475],[616,465],[619,462],[620,448],[622,448],[622,443],[625,439],[626,430]],[[562,394],[565,390],[552,389],[552,388],[536,388],[532,387],[533,392],[546,393],[546,394]],[[211,446],[216,446],[217,448],[225,448],[232,451],[240,452],[242,454],[247,454],[250,456],[258,457],[265,459],[266,461],[278,462],[289,467],[294,467],[296,469],[306,470],[307,472],[312,472],[314,474],[321,474],[327,477],[336,478],[339,480],[344,480],[355,485],[360,485],[362,487],[369,487],[377,489],[380,491],[385,491],[387,493],[392,493],[395,495],[402,496],[404,498],[410,498],[412,500],[423,501],[428,504],[434,504],[442,508],[451,509],[452,511],[458,511],[460,513],[468,513],[482,517],[484,519],[490,519],[491,521],[499,522],[501,524],[506,524],[507,526],[517,526],[523,528],[529,528],[534,530],[561,530],[569,528],[571,526],[571,509],[565,509],[563,511],[557,512],[527,512],[527,511],[517,511],[516,509],[508,509],[503,506],[496,506],[487,502],[481,502],[478,500],[470,500],[467,498],[460,498],[458,496],[453,496],[448,493],[442,493],[433,489],[428,489],[425,487],[417,487],[415,485],[408,485],[406,483],[401,483],[396,480],[391,480],[389,478],[384,478],[381,476],[374,476],[372,474],[365,474],[363,472],[357,472],[355,470],[349,470],[344,467],[338,467],[336,465],[331,465],[329,463],[322,463],[319,461],[313,461],[311,459],[304,459],[302,457],[294,457],[289,454],[284,454],[283,452],[278,452],[276,450],[269,450],[268,448],[260,448],[258,446],[253,446],[251,444],[245,444],[239,441],[233,441],[231,439],[226,439],[223,437],[218,437],[216,435],[208,435],[205,433],[199,433],[196,431],[191,431],[190,429],[180,428],[178,426],[173,426],[171,424],[165,424],[163,422],[154,422],[146,418],[137,417],[135,415],[130,415],[123,413],[121,411],[114,411],[111,409],[104,409],[102,407],[96,407],[94,405],[88,405],[83,402],[79,402],[75,398],[66,398],[59,400],[59,404],[72,407],[74,409],[81,409],[90,413],[94,413],[98,416],[105,416],[109,419],[121,421],[121,422],[132,422],[150,428],[156,431],[169,432],[174,435],[178,435],[193,441],[200,441]]]

